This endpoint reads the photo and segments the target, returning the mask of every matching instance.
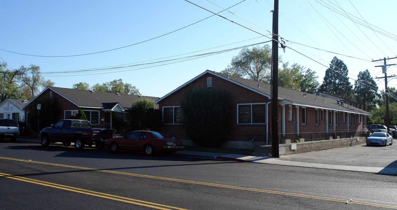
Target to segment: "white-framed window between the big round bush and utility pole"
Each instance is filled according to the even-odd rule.
[[[266,105],[238,104],[237,124],[266,124]]]

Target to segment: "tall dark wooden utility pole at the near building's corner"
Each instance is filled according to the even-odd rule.
[[[272,156],[279,158],[278,145],[278,0],[274,0],[272,34]]]

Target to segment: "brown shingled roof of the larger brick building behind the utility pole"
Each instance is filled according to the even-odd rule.
[[[248,80],[245,78],[240,78],[236,76],[231,76],[227,74],[222,74],[222,73],[216,73],[214,71],[205,71],[204,73],[198,75],[197,77],[193,78],[189,82],[183,84],[179,88],[175,89],[173,92],[179,90],[183,86],[193,82],[197,78],[203,76],[204,74],[209,73],[214,76],[218,76],[220,78],[224,78],[225,80],[228,80],[229,82],[233,82],[237,85],[240,85],[244,88],[247,88],[249,90],[252,90],[254,92],[257,92],[258,94],[264,95],[265,97],[270,98],[270,84],[262,83],[262,82],[256,82],[254,80]],[[165,95],[161,99],[157,100],[156,103],[167,97],[168,95],[172,94],[173,92]],[[356,113],[356,114],[362,114],[362,115],[370,115],[367,111],[364,111],[362,109],[358,109],[355,107],[351,107],[348,105],[340,106],[337,104],[337,101],[331,98],[323,98],[323,97],[316,97],[316,95],[309,94],[309,93],[304,93],[300,92],[297,90],[291,90],[288,88],[283,88],[283,87],[278,87],[278,100],[279,104],[290,104],[290,105],[297,105],[297,106],[303,106],[303,107],[313,107],[313,108],[319,108],[319,109],[328,109],[328,110],[333,110],[333,111],[343,111],[347,113]]]

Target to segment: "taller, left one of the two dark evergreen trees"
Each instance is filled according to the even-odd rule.
[[[326,94],[352,98],[353,85],[347,77],[348,72],[346,64],[337,57],[333,57],[330,68],[325,72],[323,83],[318,90]]]

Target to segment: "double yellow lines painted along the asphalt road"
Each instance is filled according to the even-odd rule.
[[[314,195],[304,195],[304,194],[299,194],[299,193],[287,193],[287,192],[281,192],[281,191],[257,189],[257,188],[250,188],[250,187],[239,187],[239,186],[233,186],[233,185],[221,185],[221,184],[216,184],[216,183],[191,181],[191,180],[185,180],[185,179],[173,179],[173,178],[166,178],[166,177],[160,177],[160,176],[133,174],[133,173],[127,173],[127,172],[118,172],[118,171],[111,171],[111,170],[85,168],[85,167],[79,167],[79,166],[69,166],[69,165],[54,164],[54,163],[48,163],[48,162],[38,162],[38,161],[32,161],[32,160],[21,160],[21,159],[15,159],[15,158],[0,157],[0,159],[16,160],[16,161],[21,161],[21,162],[45,164],[45,165],[51,165],[51,166],[60,166],[60,167],[66,167],[66,168],[75,168],[75,169],[87,170],[87,171],[98,171],[98,172],[106,172],[106,173],[112,173],[112,174],[122,174],[122,175],[136,176],[136,177],[142,177],[142,178],[160,179],[160,180],[167,180],[167,181],[176,181],[176,182],[190,183],[190,184],[196,184],[196,185],[206,185],[206,186],[212,186],[212,187],[221,187],[221,188],[228,188],[228,189],[254,191],[254,192],[259,192],[259,193],[270,193],[270,194],[278,194],[278,195],[287,195],[287,196],[293,196],[293,197],[302,197],[302,198],[318,199],[318,200],[328,200],[328,201],[343,202],[343,203],[348,201],[350,204],[360,204],[360,205],[366,205],[366,206],[397,209],[397,206],[393,206],[393,205],[378,204],[378,203],[371,203],[371,202],[362,202],[362,201],[350,200],[350,199],[348,199],[348,200],[346,200],[346,199],[336,199],[336,198],[321,197],[321,196],[314,196]],[[16,177],[16,176],[0,173],[0,177],[1,176],[2,177],[7,177],[7,178],[13,178],[13,179],[21,180],[21,181],[30,180],[30,179],[27,179],[27,178]],[[34,180],[34,179],[31,179],[31,180]],[[35,181],[35,183],[37,183],[37,184],[40,183],[41,185],[47,184],[46,182],[39,181],[39,180],[34,180],[34,181]],[[62,189],[65,188],[65,190],[69,190],[69,191],[75,191],[76,190],[76,191],[78,191],[78,193],[81,193],[81,192],[85,192],[84,194],[92,193],[94,196],[98,196],[98,197],[104,197],[104,198],[113,199],[113,200],[118,200],[119,199],[119,201],[123,201],[123,202],[127,202],[128,201],[130,203],[134,203],[134,204],[138,204],[138,205],[142,205],[142,206],[152,205],[154,207],[152,207],[152,206],[148,206],[148,207],[157,208],[157,209],[179,209],[179,210],[182,210],[182,208],[176,208],[176,207],[165,206],[165,205],[160,205],[160,204],[156,204],[158,206],[155,206],[154,203],[150,203],[150,202],[145,202],[145,201],[140,201],[140,200],[135,200],[135,199],[128,199],[128,198],[124,198],[124,197],[118,197],[118,196],[109,195],[109,194],[105,194],[105,193],[98,193],[98,192],[94,192],[94,191],[88,191],[88,190],[84,190],[84,189],[68,187],[68,186],[64,186],[64,185],[58,185],[58,184],[54,184],[54,183],[50,183],[49,187],[54,187],[54,186],[57,186],[56,188],[63,187]],[[59,188],[59,189],[61,189],[61,188]],[[91,194],[87,194],[87,195],[91,195]]]

